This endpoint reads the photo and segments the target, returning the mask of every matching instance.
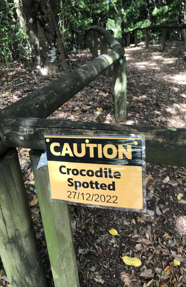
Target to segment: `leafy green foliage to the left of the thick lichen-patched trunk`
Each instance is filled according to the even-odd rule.
[[[5,1],[1,2],[0,8],[0,59],[11,67],[14,60],[23,59],[29,54],[27,36],[16,21],[14,9],[8,9]]]

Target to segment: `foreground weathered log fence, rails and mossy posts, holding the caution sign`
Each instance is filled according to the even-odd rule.
[[[96,33],[101,35],[99,57]],[[55,287],[78,287],[79,280],[68,205],[50,201],[47,167],[37,169],[43,134],[144,133],[147,162],[186,166],[186,129],[45,119],[111,65],[116,121],[126,119],[123,47],[96,26],[89,29],[86,40],[94,60],[0,112],[0,256],[11,287],[47,286],[15,147],[32,149],[29,154]]]

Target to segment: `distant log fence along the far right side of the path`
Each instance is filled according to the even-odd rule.
[[[150,30],[162,30],[161,36],[161,48],[160,51],[165,51],[165,41],[167,29],[186,29],[186,24],[160,24],[160,25],[150,25],[131,29],[130,31],[122,34],[122,41],[126,43],[126,46],[130,46],[130,35],[134,33],[134,44],[138,44],[138,30],[145,30],[145,47],[149,48],[149,32]]]

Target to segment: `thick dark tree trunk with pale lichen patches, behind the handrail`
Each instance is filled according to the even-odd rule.
[[[33,68],[43,75],[68,71],[55,6],[55,0],[23,0]]]

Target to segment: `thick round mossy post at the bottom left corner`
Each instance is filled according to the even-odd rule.
[[[47,287],[16,148],[0,157],[0,226],[11,287]]]

